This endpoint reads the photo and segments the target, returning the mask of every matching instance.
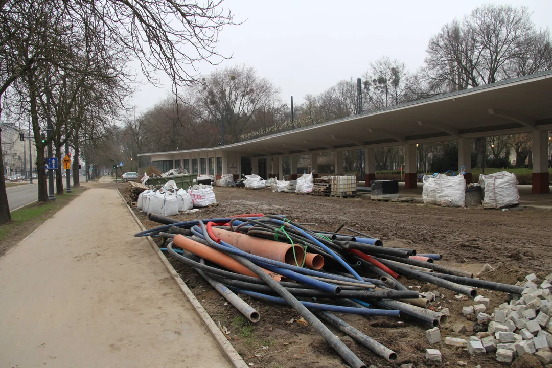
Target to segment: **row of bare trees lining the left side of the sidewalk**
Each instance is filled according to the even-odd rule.
[[[219,0],[0,0],[0,114],[30,116],[38,200],[48,200],[46,157],[61,158],[66,142],[75,185],[81,154],[87,163],[119,156],[115,121],[135,87],[131,60],[150,82],[168,74],[176,92],[197,81],[196,63],[224,59],[216,44],[228,24]],[[0,167],[0,223],[10,220],[3,175]],[[56,177],[61,194],[61,169]]]

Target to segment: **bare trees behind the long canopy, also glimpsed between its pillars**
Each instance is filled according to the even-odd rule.
[[[550,68],[549,30],[538,29],[526,7],[486,4],[463,19],[445,24],[429,40],[426,60],[418,70],[409,71],[403,62],[390,57],[370,63],[361,78],[362,109],[356,78],[349,78],[319,95],[306,95],[294,106],[293,116],[319,124],[360,110],[385,109]],[[180,89],[178,100],[167,97],[139,116],[126,116],[120,128],[126,147],[124,158],[129,161],[130,157],[136,159],[137,153],[216,146],[222,140],[222,125],[225,143],[234,143],[247,132],[290,119],[289,104],[269,79],[243,65],[220,68],[203,75],[199,83]],[[530,140],[524,135],[493,140],[496,144],[489,150],[495,158],[505,157],[510,150],[518,154],[517,162],[530,156]],[[480,164],[483,143],[474,142]],[[426,146],[420,150],[427,151],[421,162],[431,161],[431,153],[441,147]],[[403,156],[401,147],[378,148],[376,167],[397,168]],[[344,159],[354,161],[357,157],[351,153]]]

